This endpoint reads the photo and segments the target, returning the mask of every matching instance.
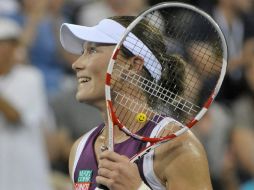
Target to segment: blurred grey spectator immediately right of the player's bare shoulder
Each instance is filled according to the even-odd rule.
[[[213,188],[224,190],[222,168],[227,152],[228,132],[232,126],[232,115],[227,107],[213,103],[208,113],[200,120],[193,132],[200,139],[207,152]]]

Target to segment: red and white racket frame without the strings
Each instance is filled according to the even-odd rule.
[[[223,49],[222,68],[221,68],[221,72],[220,72],[220,77],[219,77],[219,79],[216,83],[214,91],[212,92],[212,94],[210,95],[208,100],[204,103],[203,107],[198,112],[198,114],[193,119],[191,119],[191,121],[188,122],[186,124],[186,126],[182,127],[182,129],[180,129],[179,131],[177,131],[175,133],[172,133],[172,134],[170,134],[166,137],[149,138],[149,137],[139,136],[137,134],[131,133],[125,126],[123,126],[121,124],[121,122],[117,118],[116,114],[114,113],[113,105],[112,105],[112,101],[111,101],[111,95],[110,95],[111,94],[110,93],[110,91],[111,91],[110,90],[111,73],[113,71],[113,67],[114,67],[115,61],[117,59],[117,55],[120,51],[120,47],[123,44],[125,38],[129,34],[129,32],[131,32],[131,30],[150,12],[156,11],[156,10],[161,9],[161,8],[166,8],[166,7],[179,7],[179,8],[190,9],[192,11],[195,11],[195,12],[199,13],[200,15],[202,15],[203,17],[205,17],[206,19],[209,20],[209,22],[214,26],[214,28],[218,32],[218,34],[220,36],[220,39],[222,41],[222,43],[221,43],[222,44],[222,49]],[[168,140],[173,139],[173,138],[175,138],[177,136],[180,136],[181,134],[185,133],[188,129],[192,128],[205,115],[205,113],[207,112],[207,110],[210,107],[211,103],[214,101],[214,99],[215,99],[216,95],[218,94],[218,92],[220,90],[220,87],[222,85],[222,81],[223,81],[225,73],[226,73],[226,67],[227,67],[227,45],[226,45],[224,35],[223,35],[220,27],[218,26],[218,24],[211,18],[211,16],[209,16],[204,11],[198,9],[195,6],[185,4],[185,3],[166,2],[166,3],[157,4],[153,7],[151,7],[150,9],[144,11],[143,13],[141,13],[126,28],[125,32],[123,33],[123,35],[121,37],[121,40],[115,46],[115,49],[113,51],[113,54],[111,56],[111,59],[109,61],[109,65],[108,65],[108,68],[107,68],[106,82],[105,82],[105,98],[106,98],[106,106],[107,106],[107,114],[108,114],[108,148],[110,150],[114,150],[114,125],[117,125],[127,135],[132,136],[135,139],[151,143],[150,146],[148,146],[145,150],[142,151],[142,156],[144,154],[146,154],[147,152],[149,152],[151,149],[154,149],[154,148],[158,147],[160,144],[162,144],[164,142],[167,142]]]

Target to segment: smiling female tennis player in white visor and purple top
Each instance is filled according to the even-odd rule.
[[[63,24],[61,27],[62,46],[67,51],[80,55],[72,66],[78,81],[76,99],[98,108],[105,120],[104,124],[92,129],[73,145],[69,171],[74,187],[95,189],[96,184],[102,184],[111,190],[212,189],[206,153],[190,131],[164,143],[136,163],[131,163],[130,158],[144,148],[146,143],[130,138],[118,128],[114,130],[115,151],[105,150],[108,119],[104,85],[107,66],[124,29],[133,20],[134,17],[121,16],[104,19],[93,27],[73,24]],[[159,43],[151,40],[158,34],[149,30],[148,23],[139,27],[137,33],[149,31],[142,37],[144,44]],[[120,51],[128,70],[140,70],[152,78],[156,76],[153,66],[146,66],[146,60],[142,57],[124,47]],[[153,53],[155,55],[159,52]],[[166,62],[167,60],[162,61],[161,78],[155,80],[170,77]],[[177,69],[176,72],[180,75],[184,61],[176,56],[175,62],[175,68],[170,69]],[[142,123],[141,119],[140,123],[137,126],[140,135],[149,136],[156,130],[156,126],[149,121]]]

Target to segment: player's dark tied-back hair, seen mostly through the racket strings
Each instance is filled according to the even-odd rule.
[[[112,19],[125,28],[135,19],[133,16],[115,16],[111,17]],[[167,91],[162,90],[160,93],[165,95],[164,101],[168,102],[169,99],[167,98],[169,95],[171,98],[172,96],[180,95],[184,91],[184,74],[185,74],[185,62],[181,59],[178,55],[169,55],[167,54],[167,47],[165,45],[165,41],[163,39],[163,35],[157,27],[150,24],[147,20],[143,19],[132,31],[132,33],[138,37],[153,53],[153,55],[157,58],[160,62],[162,70],[161,70],[161,77],[158,81],[156,81],[150,72],[147,70],[146,67],[142,68],[142,75],[148,79],[148,85],[144,85],[145,88],[151,88],[151,85],[154,85],[154,88],[164,87],[168,89]],[[125,55],[125,58],[130,58],[134,56],[134,54],[129,51],[125,47],[120,48],[122,53]],[[146,91],[146,89],[145,89]],[[151,94],[145,93],[148,99],[149,106],[153,107],[155,104],[159,103],[158,101],[150,101],[154,100],[151,98]]]

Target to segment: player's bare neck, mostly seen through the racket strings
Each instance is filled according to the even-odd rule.
[[[133,94],[135,94],[135,96]],[[118,89],[118,86],[116,85],[111,98],[116,117],[119,119],[120,123],[132,133],[137,133],[144,127],[147,121],[152,120],[155,115],[146,104],[147,98],[139,88]],[[103,109],[101,109],[101,113],[106,125],[103,135],[105,135],[107,139],[108,114],[105,102]],[[142,114],[145,115],[147,119],[137,119],[137,117]],[[129,138],[129,136],[126,136],[119,127],[114,126],[113,129],[116,143]]]

